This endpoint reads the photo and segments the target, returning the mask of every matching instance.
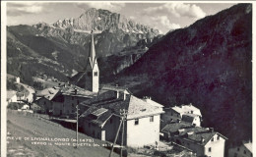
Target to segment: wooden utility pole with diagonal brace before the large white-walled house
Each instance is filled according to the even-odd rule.
[[[123,128],[122,128],[122,141],[121,141],[121,153],[120,153],[120,156],[122,156],[123,134],[124,134],[124,121],[125,121],[125,118],[126,118],[126,115],[127,115],[127,111],[126,111],[125,109],[120,110],[120,115],[121,115],[120,124],[119,124],[118,130],[117,130],[117,132],[116,132],[116,134],[115,134],[114,142],[113,142],[113,145],[112,145],[112,148],[111,148],[109,157],[111,157],[111,155],[112,155],[112,152],[113,152],[113,150],[114,150],[114,144],[115,144],[116,139],[117,139],[117,137],[118,137],[118,134],[119,134],[119,132],[120,132],[121,126],[123,125]]]

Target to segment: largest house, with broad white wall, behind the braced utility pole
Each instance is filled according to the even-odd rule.
[[[158,143],[162,105],[150,99],[137,98],[128,90],[114,88],[80,104],[88,108],[79,119],[83,131],[101,140],[113,142],[120,125],[121,111],[125,110],[126,121],[123,130],[118,133],[117,143],[121,143],[122,131],[124,145],[143,147]]]

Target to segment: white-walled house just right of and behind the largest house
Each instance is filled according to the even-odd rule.
[[[188,105],[174,106],[164,108],[164,114],[161,115],[161,129],[172,121],[182,120],[191,123],[197,127],[201,126],[202,115],[198,108],[191,103]]]

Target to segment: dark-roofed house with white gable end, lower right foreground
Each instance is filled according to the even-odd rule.
[[[198,157],[224,157],[224,144],[227,138],[212,128],[195,127],[177,121],[166,125],[161,132],[164,139],[193,150]]]

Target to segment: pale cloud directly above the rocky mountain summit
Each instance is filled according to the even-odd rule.
[[[96,9],[105,9],[112,12],[119,12],[123,7],[125,7],[125,3],[113,3],[113,2],[89,2],[89,3],[79,3],[76,4],[77,7],[85,9],[85,8],[96,8]]]

